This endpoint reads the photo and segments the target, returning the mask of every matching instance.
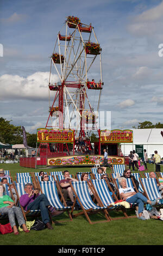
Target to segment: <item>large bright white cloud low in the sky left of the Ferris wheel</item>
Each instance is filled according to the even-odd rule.
[[[18,75],[0,77],[0,99],[12,100],[47,100],[49,72],[35,72],[27,78]],[[51,82],[58,82],[57,75],[51,75]]]

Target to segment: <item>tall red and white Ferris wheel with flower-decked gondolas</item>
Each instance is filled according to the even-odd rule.
[[[96,129],[95,119],[103,88],[101,51],[92,25],[85,25],[78,17],[68,16],[57,34],[51,56],[46,128],[74,129],[75,135],[82,137],[89,136],[91,130]],[[58,83],[52,81],[56,73]],[[91,128],[87,125],[88,119]]]

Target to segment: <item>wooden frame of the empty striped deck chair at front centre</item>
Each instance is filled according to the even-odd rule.
[[[71,183],[70,183],[70,185],[71,185],[72,191],[73,191],[74,196],[75,196],[75,198],[74,198],[74,203],[73,203],[72,210],[71,210],[71,214],[72,214],[73,217],[77,217],[77,216],[79,216],[79,215],[85,215],[87,221],[88,221],[90,224],[96,224],[96,223],[110,222],[110,221],[111,221],[111,218],[109,217],[109,214],[108,214],[108,211],[106,210],[106,208],[105,208],[105,209],[97,209],[97,210],[93,210],[92,208],[90,208],[90,209],[86,210],[86,209],[84,208],[82,202],[80,201],[80,199],[79,199],[79,197],[78,197],[76,191],[74,190],[73,185],[72,185]],[[91,190],[92,190],[92,188],[91,188]],[[93,192],[93,191],[92,191],[92,192]],[[95,193],[95,192],[94,192],[94,193]],[[103,207],[103,206],[101,206],[102,203],[101,203],[101,201],[99,200],[99,197],[96,196],[96,193],[95,193],[95,198],[96,198],[96,200],[97,200],[97,203],[98,203],[99,207]],[[80,205],[80,207],[82,208],[82,210],[81,210],[80,212],[78,212],[77,214],[73,214],[73,210],[74,210],[74,206],[75,206],[75,204],[76,204],[76,200],[78,200],[79,205]],[[105,218],[106,218],[106,221],[95,221],[95,222],[92,222],[92,221],[90,220],[89,214],[90,214],[90,215],[91,215],[91,214],[97,214],[98,212],[102,212],[102,211],[103,211],[103,213],[104,213],[104,216],[105,216]]]

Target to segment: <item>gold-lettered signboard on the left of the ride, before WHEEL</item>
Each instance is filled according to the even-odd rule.
[[[37,142],[39,143],[73,143],[74,131],[37,129]]]

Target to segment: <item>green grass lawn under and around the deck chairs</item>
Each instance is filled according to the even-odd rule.
[[[153,164],[147,164],[148,172],[153,170]],[[0,164],[0,168],[11,170],[12,178],[17,172],[40,172],[41,169],[29,169],[19,164]],[[162,166],[161,166],[162,168]],[[42,170],[69,170],[70,174],[89,171],[89,167],[51,168]],[[107,172],[110,172],[109,169]],[[135,215],[134,210],[128,214]],[[111,213],[123,216],[121,213]],[[29,219],[30,220],[30,219]],[[68,220],[67,214],[62,214],[54,220]],[[101,214],[91,216],[92,221],[105,220]],[[7,223],[1,220],[1,223]],[[97,224],[89,224],[84,216],[78,216],[73,221],[53,224],[53,230],[30,231],[29,234],[13,233],[0,235],[0,245],[162,245],[163,222],[158,220],[141,221],[137,218],[114,220]]]

